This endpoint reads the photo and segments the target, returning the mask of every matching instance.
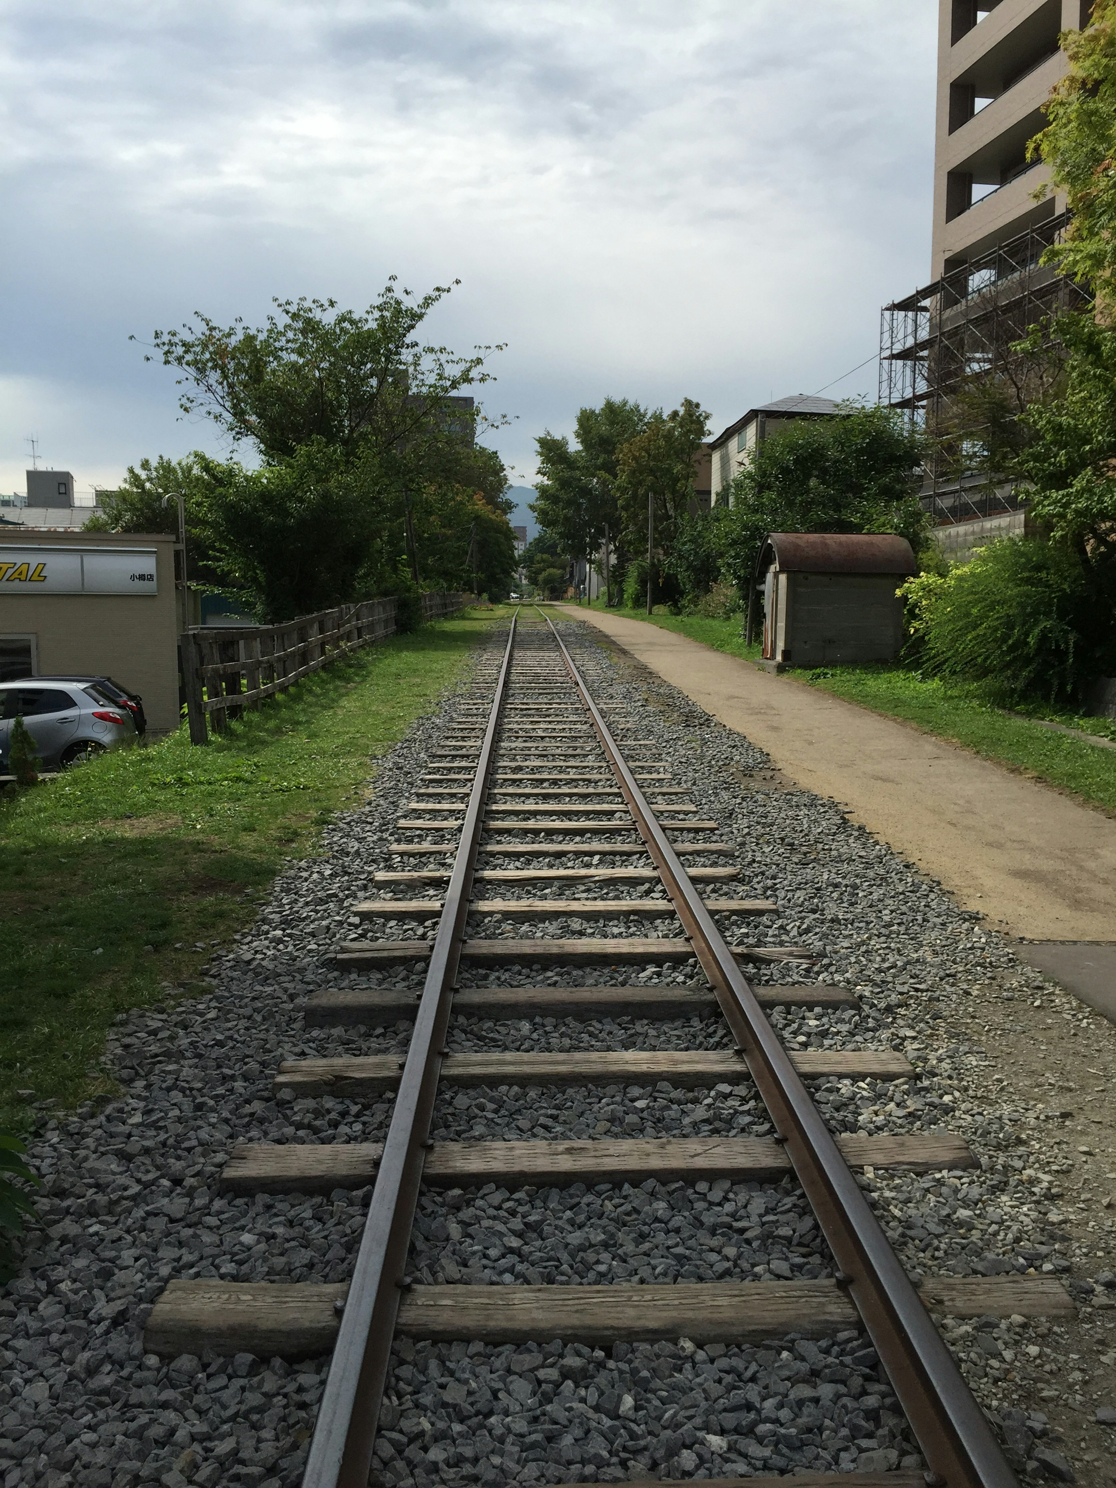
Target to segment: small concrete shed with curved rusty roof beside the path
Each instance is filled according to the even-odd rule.
[[[893,661],[903,640],[896,589],[917,573],[894,533],[768,533],[748,604],[763,594],[763,659],[775,667]]]

